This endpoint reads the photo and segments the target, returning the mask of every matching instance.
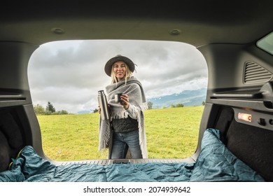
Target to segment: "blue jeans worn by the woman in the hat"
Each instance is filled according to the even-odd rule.
[[[124,159],[128,148],[133,159],[142,158],[139,146],[139,130],[128,133],[113,133],[111,159]]]

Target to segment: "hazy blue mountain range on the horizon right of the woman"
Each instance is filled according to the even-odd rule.
[[[147,99],[153,103],[153,109],[169,108],[172,105],[183,104],[184,106],[202,106],[207,95],[207,88],[200,90],[183,90],[176,94],[169,94],[161,97]]]

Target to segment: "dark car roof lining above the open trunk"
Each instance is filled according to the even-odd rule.
[[[5,2],[6,12],[0,13],[0,37],[1,41],[36,45],[71,39],[181,41],[195,46],[250,43],[272,31],[269,25],[273,23],[272,5],[272,1],[212,0],[96,4],[46,1],[38,5]],[[253,29],[253,24],[259,28]],[[63,29],[64,34],[54,34],[54,28]],[[171,35],[172,29],[181,33]]]

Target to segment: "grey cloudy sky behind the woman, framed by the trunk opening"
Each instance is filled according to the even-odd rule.
[[[97,92],[111,78],[106,62],[124,55],[137,64],[134,76],[146,98],[207,87],[207,64],[192,45],[166,41],[57,41],[31,56],[28,76],[34,105],[51,102],[69,113],[97,109]]]

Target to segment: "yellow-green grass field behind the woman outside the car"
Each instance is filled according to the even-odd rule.
[[[197,147],[204,106],[145,111],[148,158],[188,158]],[[58,161],[105,159],[97,148],[99,113],[37,116],[43,151]]]

